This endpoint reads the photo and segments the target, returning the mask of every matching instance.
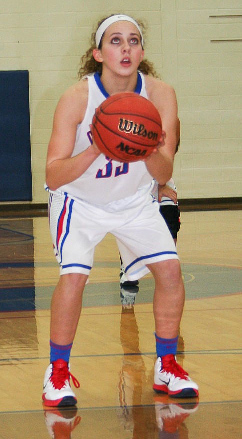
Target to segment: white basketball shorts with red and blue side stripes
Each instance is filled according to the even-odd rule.
[[[107,233],[116,238],[129,280],[147,274],[146,264],[179,259],[159,204],[151,195],[141,197],[139,203],[131,203],[131,207],[107,212],[85,201],[52,193],[49,224],[61,275],[89,275],[95,247]]]

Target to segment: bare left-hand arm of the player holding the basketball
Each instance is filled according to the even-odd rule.
[[[79,83],[63,94],[56,107],[46,161],[46,183],[52,190],[80,177],[100,154],[94,144],[71,157],[77,125],[86,111],[87,95],[87,83]]]

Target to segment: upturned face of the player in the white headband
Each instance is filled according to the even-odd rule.
[[[137,72],[144,51],[137,27],[129,21],[117,21],[111,24],[102,37],[101,49],[94,49],[93,56],[102,62],[102,71],[128,76]]]

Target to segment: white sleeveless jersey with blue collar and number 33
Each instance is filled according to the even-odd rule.
[[[95,109],[108,97],[98,73],[88,75],[87,80],[87,109],[83,121],[77,127],[72,157],[91,145],[90,125]],[[142,73],[138,73],[135,92],[148,98]],[[152,180],[143,161],[121,163],[100,154],[80,177],[59,187],[55,192],[64,193],[72,199],[84,200],[104,210],[113,211],[120,209],[120,206],[125,209],[135,201],[138,203],[142,195],[148,196],[153,187]],[[48,187],[46,189],[49,190]],[[119,200],[120,203],[118,203]]]

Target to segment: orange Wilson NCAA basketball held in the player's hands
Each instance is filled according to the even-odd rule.
[[[96,109],[92,134],[100,151],[119,162],[148,157],[161,137],[161,118],[148,99],[131,92],[108,97]]]

